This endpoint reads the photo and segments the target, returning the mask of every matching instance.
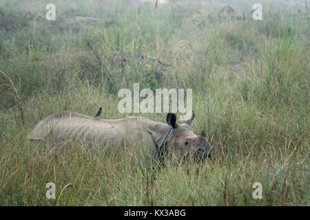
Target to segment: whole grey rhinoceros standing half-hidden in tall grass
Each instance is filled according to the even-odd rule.
[[[169,153],[178,159],[192,155],[198,158],[210,157],[212,147],[205,133],[195,135],[190,126],[194,117],[193,111],[191,118],[185,123],[176,124],[174,113],[167,113],[167,123],[163,123],[140,116],[103,120],[73,111],[63,111],[48,115],[38,122],[28,138],[44,140],[52,133],[59,140],[79,137],[114,146],[142,145],[156,158],[161,158],[163,153]]]

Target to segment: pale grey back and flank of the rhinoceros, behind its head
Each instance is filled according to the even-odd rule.
[[[29,133],[30,140],[43,140],[52,133],[54,137],[66,140],[79,137],[83,140],[96,140],[103,143],[132,145],[145,142],[149,150],[154,151],[152,136],[147,133],[149,124],[156,123],[147,118],[130,116],[117,120],[100,120],[76,113],[63,111],[49,115],[34,127]]]

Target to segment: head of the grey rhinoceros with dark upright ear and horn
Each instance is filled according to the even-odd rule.
[[[196,135],[191,123],[195,118],[194,111],[192,117],[183,124],[176,124],[176,115],[167,114],[167,124],[172,127],[172,132],[167,142],[169,151],[176,158],[194,157],[194,159],[205,159],[211,157],[213,148],[207,141],[205,132]]]

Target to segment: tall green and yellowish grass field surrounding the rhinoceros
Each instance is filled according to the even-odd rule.
[[[309,206],[304,1],[230,1],[231,14],[137,2],[53,1],[47,21],[50,1],[0,0],[0,206]],[[193,89],[192,126],[214,146],[211,161],[152,169],[139,152],[27,139],[59,111],[165,122],[166,113],[118,112],[118,90],[134,83]],[[56,199],[45,197],[48,182]]]

